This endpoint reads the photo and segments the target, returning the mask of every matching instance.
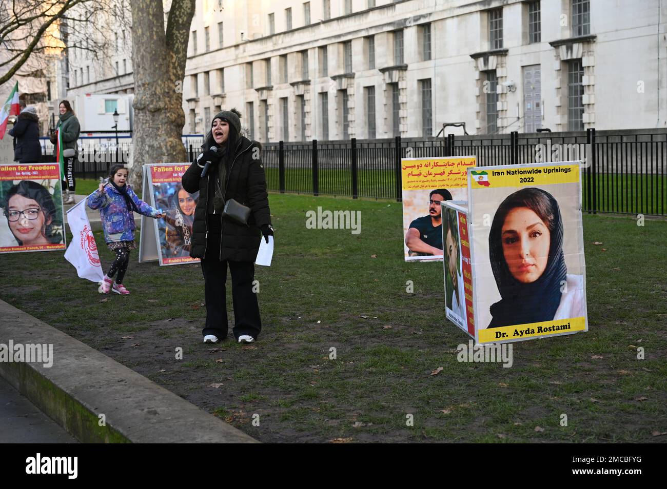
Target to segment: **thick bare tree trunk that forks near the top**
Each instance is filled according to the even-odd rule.
[[[182,84],[195,0],[173,0],[165,32],[162,0],[131,0],[134,145],[130,181],[141,195],[145,163],[185,161]]]

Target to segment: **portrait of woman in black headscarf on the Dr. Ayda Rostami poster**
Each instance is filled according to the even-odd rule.
[[[502,299],[491,306],[489,328],[584,316],[584,277],[568,274],[558,202],[527,188],[498,207],[489,258]]]

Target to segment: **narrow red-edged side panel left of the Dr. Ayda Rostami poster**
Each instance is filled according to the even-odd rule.
[[[442,203],[442,243],[444,244],[445,316],[475,337],[472,264],[468,237],[468,203]]]

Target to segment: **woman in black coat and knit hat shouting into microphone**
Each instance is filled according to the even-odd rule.
[[[231,273],[233,334],[253,342],[261,331],[253,292],[259,240],[273,236],[261,145],[240,135],[241,114],[221,111],[213,118],[202,153],[183,174],[189,193],[199,191],[190,256],[201,258],[206,300],[205,343],[227,337],[227,266]]]

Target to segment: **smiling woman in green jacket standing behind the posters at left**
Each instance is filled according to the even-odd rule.
[[[77,141],[81,126],[79,119],[74,115],[69,101],[63,100],[58,106],[60,115],[59,123],[55,133],[51,133],[51,143],[55,145],[55,155],[60,163],[60,176],[63,181],[63,190],[67,197],[65,204],[74,204],[74,191],[76,182],[74,180],[74,162],[77,159]]]

